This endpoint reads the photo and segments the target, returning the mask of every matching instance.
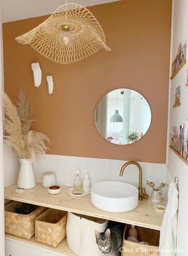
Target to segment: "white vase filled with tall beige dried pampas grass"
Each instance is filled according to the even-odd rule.
[[[48,147],[44,141],[49,143],[49,139],[45,134],[31,130],[31,125],[36,120],[32,118],[30,100],[26,100],[21,89],[15,106],[4,93],[4,107],[4,144],[14,147],[21,164],[17,186],[33,188],[36,182],[32,163],[35,162],[37,153],[46,153]]]

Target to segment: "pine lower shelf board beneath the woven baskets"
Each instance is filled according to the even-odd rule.
[[[16,240],[16,241],[24,242],[26,244],[31,244],[31,245],[35,245],[35,246],[38,246],[41,248],[45,248],[45,249],[48,249],[48,250],[51,250],[51,251],[54,251],[57,253],[62,253],[62,254],[68,255],[68,256],[76,256],[77,255],[73,251],[71,251],[71,249],[68,247],[66,238],[63,239],[63,241],[57,247],[52,247],[50,245],[36,242],[35,236],[31,237],[30,239],[25,239],[22,237],[16,237],[16,236],[9,235],[9,234],[5,233],[5,237]]]

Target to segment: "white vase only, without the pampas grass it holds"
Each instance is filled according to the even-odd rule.
[[[17,182],[18,188],[29,189],[36,186],[33,167],[30,159],[20,159],[20,172]]]

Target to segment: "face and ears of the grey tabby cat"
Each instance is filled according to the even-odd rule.
[[[101,252],[106,252],[111,248],[110,229],[107,229],[104,233],[99,233],[95,230],[96,243]]]

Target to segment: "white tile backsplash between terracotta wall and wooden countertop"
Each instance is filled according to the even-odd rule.
[[[66,155],[38,155],[34,167],[37,182],[42,182],[44,172],[53,171],[59,185],[73,186],[74,175],[77,168],[80,170],[82,180],[86,173],[89,175],[91,185],[106,180],[128,182],[138,187],[139,171],[135,165],[128,166],[123,177],[119,176],[120,169],[127,161],[77,157]],[[165,182],[166,164],[139,162],[142,167],[142,186],[151,196],[152,188],[146,184],[146,180],[153,181],[157,188],[161,182]],[[163,190],[162,190],[163,191]]]

